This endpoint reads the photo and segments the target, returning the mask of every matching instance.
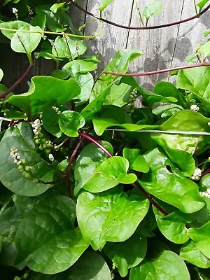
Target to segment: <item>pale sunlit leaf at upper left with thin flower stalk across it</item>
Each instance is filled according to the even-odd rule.
[[[52,55],[75,59],[79,55],[83,55],[86,50],[87,47],[83,40],[70,36],[57,36],[55,45],[52,48]]]

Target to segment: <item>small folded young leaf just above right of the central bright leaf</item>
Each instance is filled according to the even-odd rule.
[[[129,161],[130,169],[143,173],[147,173],[150,169],[139,149],[124,148],[123,157]]]

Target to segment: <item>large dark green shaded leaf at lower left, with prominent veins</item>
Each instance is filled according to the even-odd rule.
[[[47,197],[21,221],[15,235],[16,267],[55,274],[73,265],[88,244],[73,228],[76,205],[62,195]]]

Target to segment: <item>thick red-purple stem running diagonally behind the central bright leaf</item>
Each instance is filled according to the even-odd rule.
[[[109,151],[107,151],[106,148],[104,148],[104,146],[99,144],[98,141],[92,139],[92,137],[90,137],[89,135],[86,135],[84,133],[80,133],[80,137],[84,137],[85,139],[91,141],[94,145],[96,145],[99,148],[101,148],[102,151],[104,151],[104,153],[106,153],[106,155],[109,156],[109,158],[113,157],[113,155],[111,155],[111,153],[109,153]],[[153,200],[153,198],[150,195],[148,195],[148,193],[146,193],[146,191],[139,184],[135,183],[134,186],[136,186],[140,190],[140,192],[151,202],[151,204],[153,204],[154,207],[156,207],[162,214],[164,214],[165,216],[168,215],[167,211],[162,209],[162,207],[160,207],[160,205],[158,205],[158,203],[155,202],[155,200]]]

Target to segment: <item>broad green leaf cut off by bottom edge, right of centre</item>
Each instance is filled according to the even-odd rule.
[[[172,251],[163,251],[157,258],[144,260],[131,269],[130,280],[190,280],[190,274],[179,255]]]

